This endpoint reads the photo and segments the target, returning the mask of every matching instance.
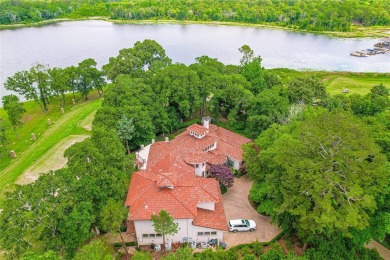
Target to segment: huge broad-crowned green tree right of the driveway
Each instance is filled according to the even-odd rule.
[[[263,132],[245,148],[249,176],[265,182],[271,217],[304,241],[370,224],[385,192],[386,158],[367,128],[351,114],[309,109],[283,127]]]

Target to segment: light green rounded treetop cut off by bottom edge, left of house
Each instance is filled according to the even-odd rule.
[[[110,247],[102,240],[92,240],[89,244],[83,246],[73,258],[74,260],[112,260],[113,255],[110,252]]]

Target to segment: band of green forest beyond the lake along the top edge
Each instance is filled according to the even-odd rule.
[[[390,25],[390,3],[386,0],[3,0],[0,10],[3,25],[97,16],[112,20],[238,22],[340,32],[351,31],[352,25]]]

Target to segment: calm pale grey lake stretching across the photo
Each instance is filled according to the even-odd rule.
[[[390,53],[368,58],[349,55],[372,48],[375,39],[338,39],[241,26],[75,21],[0,31],[0,93],[8,94],[3,86],[7,77],[36,63],[66,67],[93,58],[101,67],[120,49],[144,39],[156,40],[173,62],[185,64],[202,55],[238,64],[238,48],[248,44],[261,55],[266,68],[390,72]]]

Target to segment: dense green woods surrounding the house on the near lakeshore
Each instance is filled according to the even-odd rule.
[[[167,259],[381,259],[364,244],[390,234],[389,88],[329,95],[318,77],[286,80],[263,68],[249,46],[238,51],[239,65],[202,56],[187,66],[145,40],[120,50],[102,70],[87,59],[68,68],[36,65],[9,77],[6,89],[35,100],[42,113],[47,103],[63,104],[66,94],[87,99],[96,91],[104,99],[91,136],[65,151],[66,168],[7,193],[0,249],[10,259],[91,259],[96,251],[111,259],[112,248],[98,239],[118,234],[126,219],[131,152],[209,115],[254,140],[244,155],[254,181],[250,199],[304,252],[252,243],[193,256],[182,249]],[[3,100],[5,144],[11,130],[23,127],[17,120],[23,105],[15,97]],[[137,252],[134,259],[151,258]]]

